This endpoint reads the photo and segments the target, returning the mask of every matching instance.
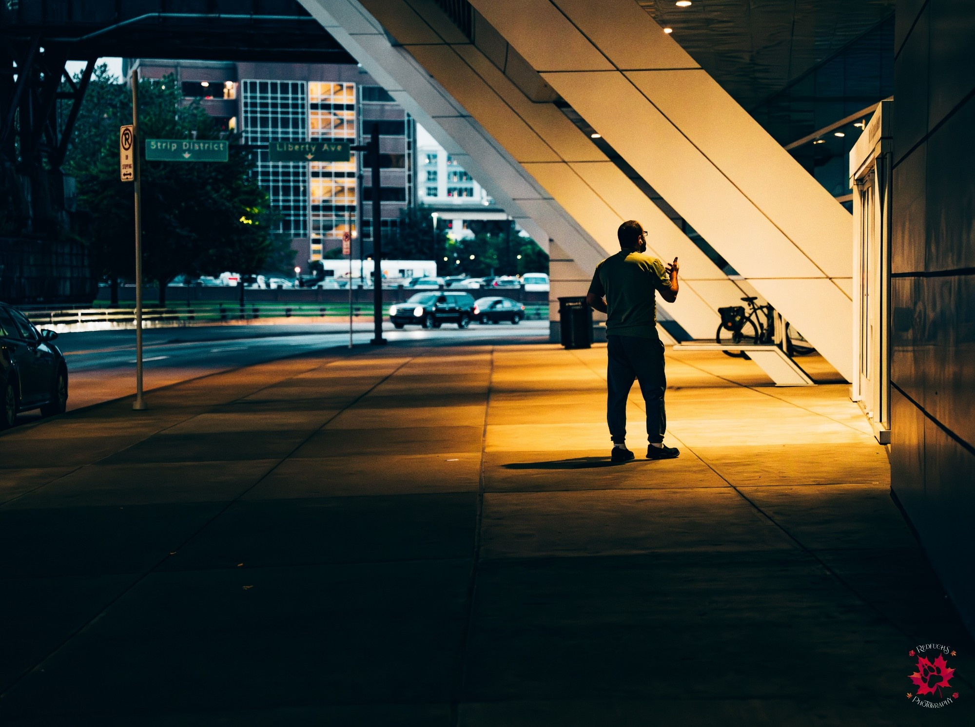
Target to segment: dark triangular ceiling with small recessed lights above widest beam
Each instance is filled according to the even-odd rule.
[[[638,0],[746,109],[894,12],[895,0]],[[637,41],[639,42],[639,41]]]

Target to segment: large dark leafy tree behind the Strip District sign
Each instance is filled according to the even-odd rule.
[[[110,89],[99,93],[114,97]],[[123,104],[123,121],[126,112]],[[129,118],[131,113],[130,99]],[[134,268],[133,185],[119,181],[118,127],[111,134],[98,122],[96,127],[108,137],[98,155],[90,139],[78,144],[79,199],[91,215],[91,243],[104,274],[129,277]],[[173,76],[139,83],[139,132],[142,265],[145,278],[159,286],[160,305],[166,304],[166,286],[179,275],[254,274],[265,266],[291,264],[288,241],[272,232],[276,213],[252,175],[248,150],[231,143],[226,163],[145,161],[147,138],[215,139],[221,134],[198,101],[183,102]]]

